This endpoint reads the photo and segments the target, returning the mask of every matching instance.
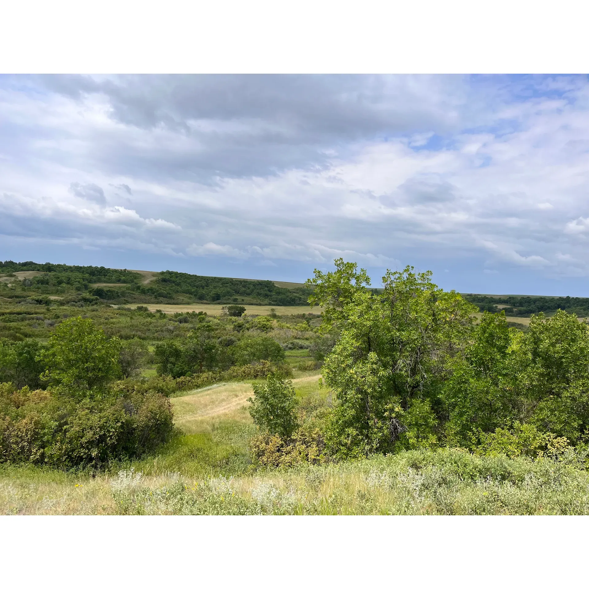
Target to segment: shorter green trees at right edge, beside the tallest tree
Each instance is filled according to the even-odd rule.
[[[475,448],[515,423],[585,443],[588,366],[589,332],[575,315],[534,316],[521,333],[485,313],[444,389],[448,443]]]

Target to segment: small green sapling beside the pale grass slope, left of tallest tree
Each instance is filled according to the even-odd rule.
[[[297,427],[296,394],[292,380],[269,375],[266,383],[252,385],[253,398],[247,399],[250,415],[264,434],[289,438]]]

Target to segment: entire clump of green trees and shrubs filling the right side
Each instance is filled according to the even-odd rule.
[[[477,310],[411,268],[382,292],[356,265],[316,271],[311,300],[340,333],[323,376],[335,392],[326,452],[339,458],[436,446],[482,454],[583,454],[589,442],[589,330],[558,310],[528,330]]]

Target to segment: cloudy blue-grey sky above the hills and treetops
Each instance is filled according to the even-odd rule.
[[[589,296],[585,75],[3,75],[0,258]]]

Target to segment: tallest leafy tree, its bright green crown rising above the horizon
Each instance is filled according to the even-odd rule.
[[[324,307],[323,329],[340,333],[323,376],[336,393],[330,443],[341,456],[436,442],[439,392],[449,361],[466,345],[477,310],[431,282],[431,273],[383,277],[371,290],[365,270],[335,260],[315,270],[309,302]]]

